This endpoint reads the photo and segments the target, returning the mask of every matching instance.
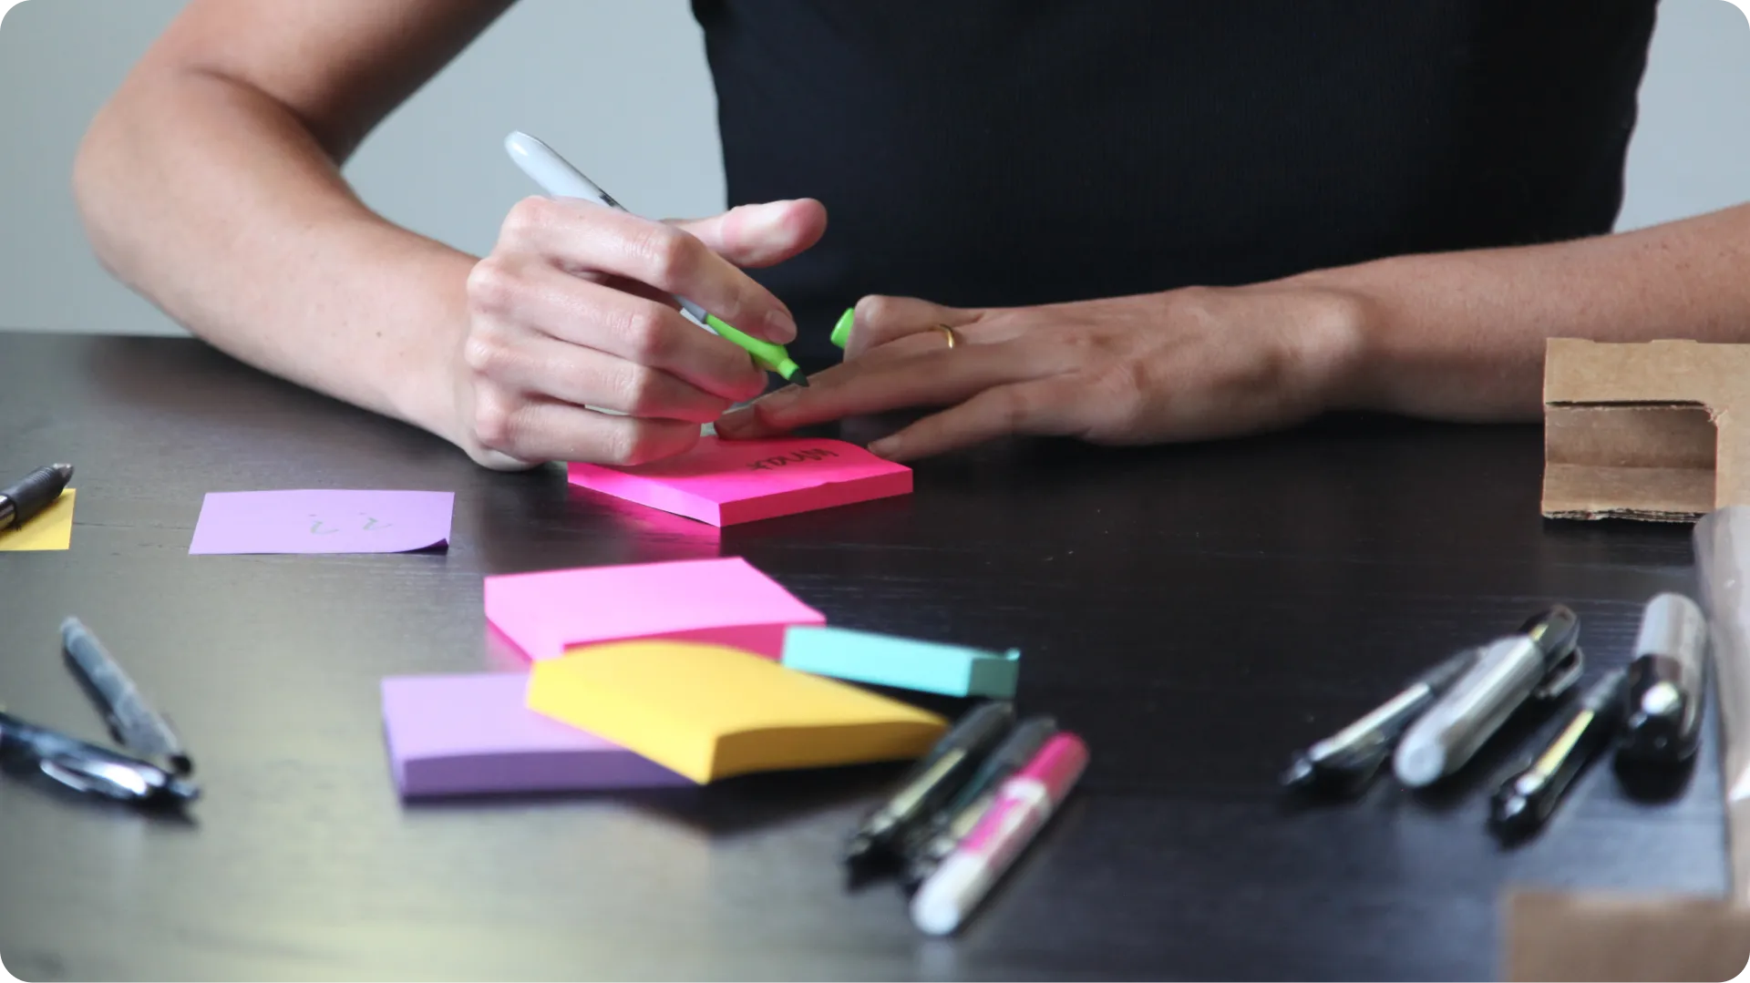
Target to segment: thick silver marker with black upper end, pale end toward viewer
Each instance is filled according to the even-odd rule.
[[[1410,724],[1391,759],[1412,789],[1458,771],[1526,700],[1554,700],[1580,679],[1580,617],[1556,605],[1496,638],[1452,689]]]

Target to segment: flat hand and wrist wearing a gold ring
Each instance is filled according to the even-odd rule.
[[[1038,308],[864,297],[844,364],[728,413],[718,434],[945,408],[870,444],[912,460],[1004,434],[1144,444],[1278,429],[1356,402],[1363,313],[1353,294],[1293,282]]]

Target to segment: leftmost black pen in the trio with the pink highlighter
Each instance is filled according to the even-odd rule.
[[[858,826],[845,843],[844,862],[856,866],[877,855],[892,855],[898,841],[966,784],[1013,724],[1015,705],[1008,701],[984,703],[961,717],[906,771],[900,789]]]

